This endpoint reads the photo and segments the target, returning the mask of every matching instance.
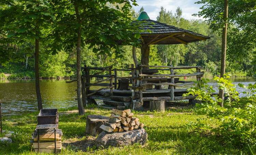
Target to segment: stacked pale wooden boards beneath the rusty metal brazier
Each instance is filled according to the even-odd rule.
[[[33,146],[35,153],[61,153],[62,135],[63,133],[61,129],[58,129],[58,124],[40,124],[37,125],[34,132],[32,133],[32,140],[30,141],[30,145]]]

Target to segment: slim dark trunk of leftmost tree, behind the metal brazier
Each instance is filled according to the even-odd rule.
[[[35,32],[37,36],[37,32]],[[37,105],[38,110],[40,111],[43,108],[42,105],[42,97],[40,93],[40,85],[39,85],[39,40],[35,39],[35,91],[37,93]]]

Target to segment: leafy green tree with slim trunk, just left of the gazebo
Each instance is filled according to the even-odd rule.
[[[135,0],[131,1],[136,5]],[[116,56],[119,56],[120,42],[122,45],[134,45],[140,41],[138,33],[138,24],[130,24],[129,0],[96,0],[96,1],[56,1],[56,5],[63,5],[61,9],[59,27],[53,33],[56,41],[62,39],[65,49],[71,50],[76,44],[77,52],[77,104],[79,114],[84,114],[82,103],[81,86],[81,47],[89,44],[94,52],[99,54],[112,54],[111,49],[116,49]],[[109,7],[108,4],[123,4],[122,8],[116,5],[116,8]],[[76,20],[74,20],[76,19]],[[61,29],[60,29],[61,27]],[[76,30],[76,35],[74,31]],[[119,40],[119,43],[117,42]],[[98,46],[100,45],[100,46]],[[97,48],[96,48],[97,47]]]

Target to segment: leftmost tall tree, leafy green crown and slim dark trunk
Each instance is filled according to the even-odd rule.
[[[35,89],[38,110],[42,109],[39,85],[39,42],[45,39],[49,25],[55,20],[54,6],[42,0],[1,0],[0,32],[16,42],[33,41],[35,47]],[[1,39],[4,39],[1,38]]]

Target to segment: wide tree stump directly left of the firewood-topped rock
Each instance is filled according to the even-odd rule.
[[[110,117],[102,115],[88,115],[86,118],[85,134],[99,135],[103,130],[100,128],[104,122],[109,122]]]

